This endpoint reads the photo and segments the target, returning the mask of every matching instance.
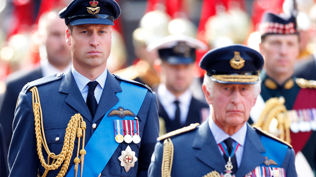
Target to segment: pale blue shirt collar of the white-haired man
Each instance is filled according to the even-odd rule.
[[[245,145],[246,132],[247,132],[247,124],[246,123],[244,123],[244,125],[235,134],[233,134],[231,136],[229,136],[229,134],[225,133],[221,128],[219,128],[214,123],[212,117],[209,117],[209,127],[210,127],[210,130],[214,136],[216,144],[219,144],[230,137],[233,140],[235,140],[237,143],[239,143],[240,146]]]

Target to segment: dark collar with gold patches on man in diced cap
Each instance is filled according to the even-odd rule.
[[[262,73],[262,74],[261,74]],[[264,86],[271,90],[275,90],[277,88],[285,88],[287,90],[291,89],[295,85],[295,77],[294,75],[290,77],[288,80],[286,80],[283,85],[278,85],[275,80],[270,78],[264,71],[262,71],[260,74],[262,76],[262,81],[264,83]]]

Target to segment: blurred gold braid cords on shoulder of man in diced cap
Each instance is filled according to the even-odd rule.
[[[256,123],[253,124],[254,127],[260,127],[263,131],[269,132],[269,126],[273,119],[276,119],[278,125],[277,129],[280,133],[278,135],[279,139],[291,143],[290,137],[290,124],[291,119],[289,117],[288,111],[284,106],[284,98],[270,98],[266,101],[265,107]]]

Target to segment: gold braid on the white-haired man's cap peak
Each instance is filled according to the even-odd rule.
[[[258,81],[258,76],[256,75],[212,75],[213,78],[220,80],[220,81],[225,81],[225,82],[246,82],[246,83],[251,83],[251,82],[256,82]]]

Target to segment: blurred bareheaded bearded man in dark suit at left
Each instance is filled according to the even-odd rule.
[[[16,100],[23,86],[42,77],[58,72],[67,72],[71,63],[71,48],[65,42],[67,26],[58,16],[58,10],[43,14],[39,21],[39,40],[41,62],[40,67],[27,73],[17,71],[8,76],[6,91],[0,109],[0,123],[3,125],[7,151],[12,138],[12,123]]]

